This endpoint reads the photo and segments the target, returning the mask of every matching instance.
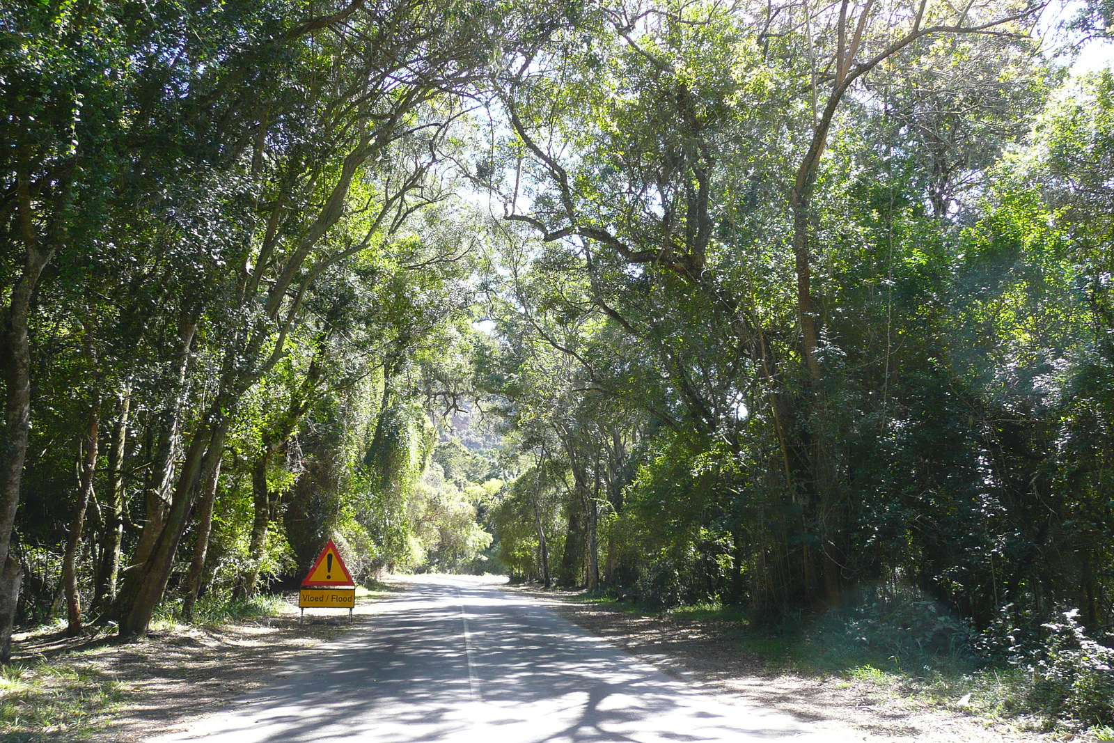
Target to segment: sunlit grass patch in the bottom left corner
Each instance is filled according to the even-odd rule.
[[[125,696],[118,682],[66,656],[0,666],[0,740],[82,740]]]

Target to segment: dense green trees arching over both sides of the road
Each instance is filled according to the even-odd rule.
[[[332,538],[1101,665],[1114,76],[1044,10],[4,3],[0,655]]]

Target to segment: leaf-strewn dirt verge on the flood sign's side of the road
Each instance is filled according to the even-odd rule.
[[[404,586],[388,586],[404,590]],[[375,597],[342,612],[300,619],[296,594],[278,616],[214,627],[160,628],[141,641],[16,635],[12,664],[20,690],[0,690],[0,739],[141,743],[184,729],[272,678],[299,654],[370,622]],[[265,648],[265,652],[261,652]]]

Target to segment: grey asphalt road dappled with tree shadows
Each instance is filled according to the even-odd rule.
[[[697,692],[544,603],[428,577],[270,686],[150,743],[782,740],[834,739]]]

